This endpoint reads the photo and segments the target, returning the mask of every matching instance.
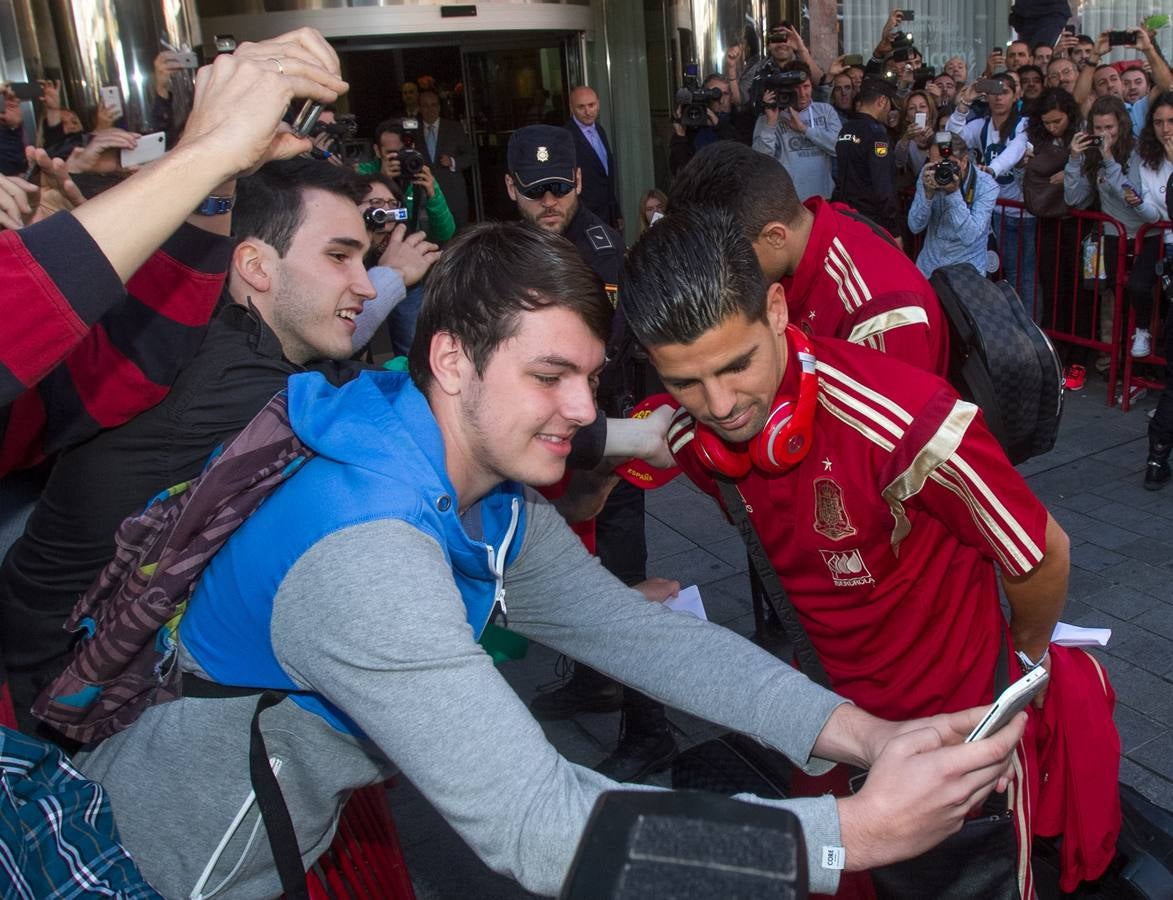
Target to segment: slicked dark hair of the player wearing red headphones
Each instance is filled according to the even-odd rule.
[[[673,209],[631,248],[619,297],[644,346],[691,344],[737,314],[766,320],[766,277],[727,209]]]

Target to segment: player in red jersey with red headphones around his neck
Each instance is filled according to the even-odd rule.
[[[989,703],[997,682],[1047,664],[1067,539],[975,406],[894,353],[794,327],[727,210],[673,209],[619,290],[691,417],[669,435],[677,462],[710,494],[712,461],[735,482],[834,690],[874,715],[924,716]],[[1008,801],[1022,896],[1030,747]]]

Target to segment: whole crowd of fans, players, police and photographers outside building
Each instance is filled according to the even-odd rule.
[[[788,23],[761,59],[731,48],[700,82],[703,123],[677,110],[672,184],[639,198],[630,250],[585,86],[565,123],[510,137],[496,190],[518,222],[479,224],[441,92],[405,84],[369,158],[350,158],[347,86],[312,29],[198,72],[161,54],[171,149],[141,170],[118,163],[138,136],[101,119],[82,133],[55,83],[42,146],[23,147],[8,97],[0,499],[39,481],[27,521],[2,523],[0,718],[102,785],[147,881],[290,892],[250,770],[263,732],[298,873],[348,794],[400,771],[489,866],[557,893],[597,797],[676,756],[670,705],[791,760],[789,799],[739,797],[798,814],[813,891],[913,878],[934,895],[1031,895],[1033,835],[1066,833],[1074,811],[1056,798],[1072,778],[1114,796],[1119,740],[1110,699],[1087,698],[1098,668],[1050,644],[1067,537],[944,380],[927,276],[1001,268],[1045,310],[1053,270],[1021,249],[1071,250],[1069,208],[1097,205],[1130,236],[1166,218],[1173,74],[1143,29],[1130,40],[1146,67],[1127,80],[1100,65],[1107,34],[1016,41],[969,80],[960,57],[925,69],[902,33],[895,11],[870,60],[826,70]],[[290,122],[306,100],[323,110],[303,135]],[[1158,237],[1130,270],[1138,323],[1159,253]],[[375,365],[382,329],[396,358]],[[63,625],[116,577],[120,523],[198,490],[274,397],[306,461],[190,575],[158,647],[184,684],[286,699],[185,689],[101,740],[62,738],[46,720],[117,699],[60,678],[104,640],[93,621]],[[1162,401],[1146,486],[1168,480],[1171,446]],[[644,492],[616,474],[631,459],[744,506],[820,672],[663,605],[680,586],[646,571]],[[556,649],[574,676],[527,709],[479,643],[490,625]],[[1039,668],[1052,681],[1030,715],[965,742]],[[1073,705],[1091,750],[1051,739]],[[594,770],[537,724],[621,708]],[[1002,850],[942,844],[977,808],[1004,825]],[[1103,872],[1111,827],[1069,835],[1067,874]]]

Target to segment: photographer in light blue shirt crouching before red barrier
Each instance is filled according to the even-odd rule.
[[[925,278],[952,263],[969,263],[985,275],[985,236],[997,199],[997,182],[970,163],[962,137],[937,134],[908,210],[909,230],[924,232],[916,268]]]

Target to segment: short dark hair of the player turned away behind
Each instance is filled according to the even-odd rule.
[[[676,174],[667,205],[727,209],[750,241],[769,222],[794,224],[802,215],[789,172],[772,156],[737,141],[717,141],[698,150]]]

